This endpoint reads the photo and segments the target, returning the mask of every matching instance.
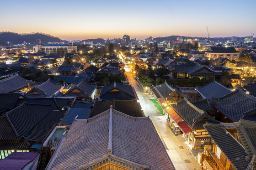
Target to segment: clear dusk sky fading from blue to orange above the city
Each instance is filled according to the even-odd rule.
[[[0,31],[63,40],[251,36],[256,0],[2,0]],[[251,7],[250,7],[251,6]]]

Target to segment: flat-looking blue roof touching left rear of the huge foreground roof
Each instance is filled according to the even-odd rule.
[[[90,108],[70,108],[68,113],[62,119],[61,123],[73,123],[74,119],[86,119],[91,114]]]

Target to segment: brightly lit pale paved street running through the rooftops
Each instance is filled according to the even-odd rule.
[[[135,89],[141,107],[144,111],[145,116],[149,116],[152,120],[156,130],[160,134],[160,138],[164,141],[165,149],[176,170],[200,170],[201,166],[196,162],[192,155],[187,155],[186,152],[189,150],[186,148],[181,139],[178,136],[175,136],[171,129],[165,123],[165,118],[158,113],[158,110],[155,107],[155,104],[151,102],[149,93],[144,93],[143,89],[139,86],[138,82],[133,78],[132,72],[126,67],[126,75],[129,83]],[[182,146],[184,149],[180,149],[179,146]],[[186,163],[186,162],[190,163]]]

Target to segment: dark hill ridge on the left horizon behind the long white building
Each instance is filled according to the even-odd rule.
[[[27,42],[27,43],[35,43],[36,39],[41,39],[42,43],[48,43],[48,42],[63,42],[60,38],[56,36],[51,36],[49,34],[45,34],[42,32],[32,32],[32,33],[15,33],[15,32],[7,32],[2,31],[0,32],[0,45],[4,42],[7,43],[8,41],[13,44],[21,44]],[[4,44],[6,45],[6,44]]]

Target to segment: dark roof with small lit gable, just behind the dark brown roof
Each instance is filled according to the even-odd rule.
[[[100,98],[102,100],[130,100],[134,99],[135,94],[131,85],[112,82],[101,88]]]

